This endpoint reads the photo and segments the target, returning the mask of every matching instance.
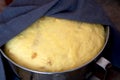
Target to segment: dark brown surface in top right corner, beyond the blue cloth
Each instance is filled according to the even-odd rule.
[[[120,0],[96,0],[120,32]]]

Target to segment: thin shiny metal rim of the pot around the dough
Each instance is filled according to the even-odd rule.
[[[106,32],[106,39],[105,39],[105,43],[102,47],[102,49],[98,52],[98,54],[93,58],[91,59],[90,61],[88,61],[87,63],[83,64],[82,66],[78,66],[76,68],[73,68],[73,69],[70,69],[70,70],[65,70],[65,71],[60,71],[60,72],[43,72],[43,71],[37,71],[37,70],[32,70],[32,69],[28,69],[26,67],[23,67],[17,63],[15,63],[12,59],[10,59],[7,55],[5,55],[5,53],[3,52],[2,48],[0,48],[0,52],[1,54],[9,61],[11,62],[13,65],[17,66],[18,68],[21,68],[23,70],[26,70],[26,71],[29,71],[29,72],[33,72],[33,73],[38,73],[38,74],[61,74],[61,73],[67,73],[67,72],[71,72],[71,71],[75,71],[75,70],[78,70],[86,65],[88,65],[89,63],[91,63],[92,61],[96,60],[97,57],[102,53],[102,51],[104,50],[104,48],[106,47],[107,45],[107,42],[109,40],[109,36],[110,36],[110,28],[109,26],[104,26],[105,28],[105,32]]]

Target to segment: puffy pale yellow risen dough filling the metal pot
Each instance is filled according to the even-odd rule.
[[[92,60],[104,42],[105,31],[100,24],[43,17],[11,39],[4,51],[26,68],[60,72]]]

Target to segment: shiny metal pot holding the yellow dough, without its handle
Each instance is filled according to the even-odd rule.
[[[81,78],[80,80],[84,80],[84,74],[87,72],[88,65],[96,61],[100,58],[100,54],[102,54],[102,51],[104,50],[108,40],[109,40],[109,34],[110,34],[110,28],[109,26],[105,26],[105,32],[106,32],[106,40],[103,48],[100,50],[100,52],[97,54],[97,56],[94,57],[94,59],[88,61],[86,64],[79,66],[77,68],[63,71],[63,72],[40,72],[31,70],[28,68],[25,68],[23,66],[20,66],[19,64],[15,63],[13,60],[11,60],[2,50],[0,49],[2,55],[8,60],[10,63],[10,66],[12,67],[15,74],[20,77],[19,72],[23,72],[23,74],[28,74],[29,78],[31,80],[77,80],[78,78]],[[22,79],[22,80],[26,80]]]

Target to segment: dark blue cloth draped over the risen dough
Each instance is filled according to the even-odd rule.
[[[14,0],[0,14],[0,46],[42,16],[109,25],[112,35],[110,60],[120,68],[120,33],[94,0]],[[4,69],[0,74],[3,72]],[[0,77],[0,80],[5,78]]]

